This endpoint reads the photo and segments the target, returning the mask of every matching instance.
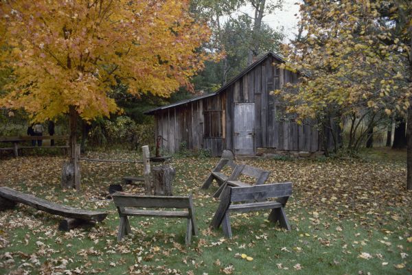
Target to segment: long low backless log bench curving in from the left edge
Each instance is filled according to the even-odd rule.
[[[0,209],[13,208],[18,202],[53,215],[67,217],[67,219],[60,222],[60,230],[70,230],[82,224],[102,222],[108,214],[106,212],[89,211],[62,204],[56,204],[54,202],[37,198],[34,195],[28,195],[15,191],[14,189],[8,187],[0,187]]]

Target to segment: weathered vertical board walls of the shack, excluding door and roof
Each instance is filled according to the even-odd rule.
[[[187,149],[210,150],[219,156],[222,150],[234,152],[233,125],[236,118],[236,103],[254,103],[254,144],[256,148],[266,147],[276,150],[316,152],[323,149],[317,129],[306,121],[303,125],[294,122],[294,117],[286,114],[284,103],[271,91],[283,88],[288,82],[296,83],[299,75],[279,69],[279,60],[268,56],[249,72],[233,82],[218,95],[198,99],[179,106],[160,110],[155,115],[156,135],[163,136],[162,147],[169,152]],[[222,111],[216,127],[222,127],[221,137],[205,136],[205,112]],[[214,116],[216,118],[216,116]],[[206,130],[207,132],[208,130]],[[328,147],[333,147],[330,133]]]

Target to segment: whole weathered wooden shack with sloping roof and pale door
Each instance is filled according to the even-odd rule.
[[[212,156],[222,150],[237,155],[323,151],[319,133],[311,125],[298,125],[286,115],[279,96],[270,92],[298,81],[299,73],[280,69],[284,60],[268,52],[215,93],[161,106],[146,112],[155,116],[156,136],[163,150],[174,153],[205,149]],[[328,146],[332,146],[331,137]]]

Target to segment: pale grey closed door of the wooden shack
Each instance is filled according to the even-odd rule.
[[[255,104],[236,103],[234,109],[235,154],[255,154]]]

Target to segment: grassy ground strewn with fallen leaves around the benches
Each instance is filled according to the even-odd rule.
[[[131,217],[134,234],[117,243],[108,185],[141,174],[140,165],[82,162],[82,192],[60,188],[62,156],[0,160],[0,185],[110,214],[93,228],[57,230],[59,217],[19,205],[0,214],[0,274],[411,274],[412,198],[403,153],[365,159],[241,160],[292,181],[292,230],[268,211],[231,216],[233,239],[208,224],[217,187],[201,190],[218,158],[173,158],[174,194],[193,193],[200,234],[184,246],[185,220]],[[91,152],[95,158],[139,158]],[[395,157],[393,157],[395,156]],[[402,157],[398,157],[402,156]],[[240,161],[239,161],[240,162]],[[143,193],[143,187],[124,186]]]

